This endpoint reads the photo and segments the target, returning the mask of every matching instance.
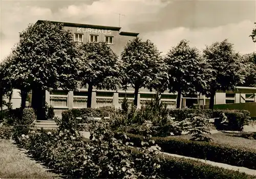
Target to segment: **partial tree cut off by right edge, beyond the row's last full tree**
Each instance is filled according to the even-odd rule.
[[[242,60],[242,63],[245,65],[245,82],[238,85],[256,87],[256,53],[244,54]]]

